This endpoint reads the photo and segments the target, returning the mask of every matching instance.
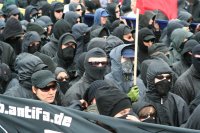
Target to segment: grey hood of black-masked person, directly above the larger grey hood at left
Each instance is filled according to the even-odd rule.
[[[30,43],[40,42],[40,41],[41,41],[41,38],[37,32],[35,32],[35,31],[27,32],[24,35],[24,39],[22,41],[22,52],[28,53],[28,46],[30,45]]]

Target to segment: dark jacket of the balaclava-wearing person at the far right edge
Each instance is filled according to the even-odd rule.
[[[174,93],[182,97],[187,104],[195,98],[200,87],[200,73],[192,65],[176,81]]]

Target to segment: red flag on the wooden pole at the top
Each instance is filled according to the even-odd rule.
[[[140,9],[140,14],[145,10],[160,10],[169,20],[177,18],[177,0],[137,0],[136,8]]]

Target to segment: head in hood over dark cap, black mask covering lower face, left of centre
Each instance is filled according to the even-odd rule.
[[[68,40],[67,42],[65,40]],[[65,42],[64,42],[65,41]],[[75,48],[72,46],[68,46],[64,49],[62,49],[63,43],[70,43],[70,42],[76,42],[75,38],[72,36],[72,34],[65,33],[62,35],[59,39],[59,49],[57,52],[57,55],[60,59],[64,60],[65,65],[69,66],[73,63],[74,61],[74,56],[76,53],[76,43],[75,43]]]

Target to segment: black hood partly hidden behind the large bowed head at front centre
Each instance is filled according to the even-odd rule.
[[[96,90],[103,87],[109,87],[109,84],[104,80],[96,80],[90,84],[83,95],[83,99],[90,105],[92,100],[95,98]]]

